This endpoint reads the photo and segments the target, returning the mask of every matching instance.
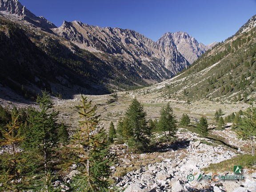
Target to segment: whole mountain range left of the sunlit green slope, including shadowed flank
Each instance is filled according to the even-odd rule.
[[[154,84],[211,48],[184,32],[154,42],[133,30],[80,21],[57,28],[18,0],[0,0],[0,45],[1,88],[27,98],[41,89],[68,98]]]

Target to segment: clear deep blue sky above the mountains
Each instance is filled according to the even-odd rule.
[[[256,15],[256,0],[20,0],[57,27],[79,20],[133,29],[156,41],[166,32],[188,32],[203,44],[224,41]]]

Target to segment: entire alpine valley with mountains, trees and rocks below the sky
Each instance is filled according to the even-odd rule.
[[[256,16],[221,43],[187,32],[154,42],[77,20],[58,28],[18,0],[0,0],[0,190],[256,192],[255,74]],[[34,130],[44,118],[56,125],[45,126],[48,145]],[[40,147],[44,155],[33,151]]]

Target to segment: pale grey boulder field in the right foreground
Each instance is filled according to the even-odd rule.
[[[199,180],[196,181],[202,168],[209,164],[219,163],[236,156],[222,146],[201,143],[196,134],[178,132],[178,137],[188,140],[183,150],[169,149],[174,158],[163,158],[161,162],[148,164],[138,170],[128,172],[125,176],[116,177],[116,185],[124,192],[256,192],[256,173],[247,174],[243,170],[243,180]],[[196,140],[196,141],[194,141]],[[204,139],[210,142],[208,139]],[[144,158],[147,154],[141,154]],[[125,159],[124,159],[125,161]],[[188,181],[188,175],[194,180]],[[219,173],[234,175],[233,172]],[[207,173],[206,175],[212,175]]]

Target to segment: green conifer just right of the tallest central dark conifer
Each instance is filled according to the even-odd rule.
[[[177,132],[177,120],[173,109],[170,107],[170,103],[167,103],[166,107],[161,108],[158,126],[165,134],[168,132],[166,135],[168,140],[175,138]]]

